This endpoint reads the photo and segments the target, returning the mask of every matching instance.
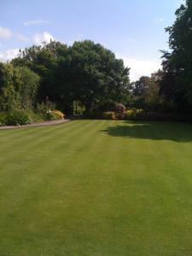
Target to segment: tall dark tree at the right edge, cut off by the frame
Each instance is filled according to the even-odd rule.
[[[171,52],[163,51],[160,93],[179,112],[192,110],[192,1],[176,11],[176,20],[166,28]]]

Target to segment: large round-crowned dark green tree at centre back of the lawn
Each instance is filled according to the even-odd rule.
[[[123,61],[91,41],[76,42],[69,50],[75,100],[87,110],[121,102],[130,87],[129,69]]]

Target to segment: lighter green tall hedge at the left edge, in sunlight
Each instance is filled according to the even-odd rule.
[[[38,92],[39,77],[27,67],[0,63],[0,110],[32,108]]]

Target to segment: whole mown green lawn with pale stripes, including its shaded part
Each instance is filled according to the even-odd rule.
[[[0,131],[0,255],[192,255],[192,125]]]

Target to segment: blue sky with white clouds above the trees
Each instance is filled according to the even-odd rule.
[[[131,67],[131,81],[160,68],[183,0],[0,0],[0,61],[50,39],[71,45],[90,39]]]

